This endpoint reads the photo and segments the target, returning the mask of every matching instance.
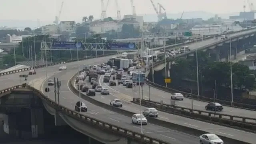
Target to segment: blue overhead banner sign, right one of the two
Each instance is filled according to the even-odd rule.
[[[112,42],[106,44],[110,50],[136,50],[136,44],[133,42]]]

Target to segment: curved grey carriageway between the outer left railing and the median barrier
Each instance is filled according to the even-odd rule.
[[[80,98],[69,90],[68,88],[69,80],[67,79],[74,76],[76,72],[77,72],[77,68],[73,68],[73,70],[64,71],[50,77],[51,79],[53,79],[54,76],[58,76],[59,80],[62,83],[62,86],[60,87],[60,105],[70,108],[71,110],[74,110],[74,106],[76,102],[80,100]],[[47,82],[45,82],[44,85],[42,85],[42,89],[44,89],[44,87],[48,87]],[[53,87],[53,86],[50,86],[50,87]],[[46,96],[47,95],[52,100],[55,100],[55,95],[53,90],[50,91],[49,93],[46,93]],[[132,124],[130,117],[123,116],[121,114],[117,114],[109,110],[105,110],[104,108],[90,104],[85,100],[82,100],[82,102],[84,102],[88,106],[88,112],[82,112],[82,114],[140,133],[140,126]],[[184,144],[184,143],[198,144],[197,136],[192,136],[189,134],[185,134],[183,132],[164,128],[154,124],[149,123],[148,125],[143,126],[143,130],[144,130],[144,134],[147,136],[158,138],[173,144]]]

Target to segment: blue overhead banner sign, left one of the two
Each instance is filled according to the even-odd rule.
[[[53,42],[52,47],[60,49],[82,49],[82,42]]]

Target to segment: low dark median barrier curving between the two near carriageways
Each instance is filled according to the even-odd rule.
[[[78,75],[78,73],[70,79],[70,81],[68,83],[68,86],[69,86],[70,90],[74,94],[76,94],[76,96],[79,96],[80,92],[73,85],[74,80],[75,80],[77,75]],[[99,101],[97,101],[93,98],[90,98],[89,96],[86,96],[83,93],[81,93],[81,98],[83,98],[84,100],[86,100],[86,101],[88,101],[88,102],[90,102],[90,103],[92,103],[96,106],[100,106],[100,107],[102,107],[106,110],[110,110],[110,111],[116,112],[118,114],[122,114],[124,116],[132,117],[132,115],[135,114],[134,112],[130,112],[128,110],[124,110],[124,109],[121,109],[121,108],[116,108],[116,107],[110,106],[109,104],[106,104],[104,102],[99,102]],[[208,133],[208,132],[203,131],[203,130],[198,130],[198,129],[195,129],[195,128],[190,128],[190,127],[187,127],[187,126],[182,126],[182,125],[166,122],[164,120],[159,120],[159,119],[156,119],[156,118],[148,117],[147,119],[148,119],[149,123],[156,124],[156,125],[159,125],[159,126],[163,126],[163,127],[166,127],[166,128],[170,128],[170,129],[173,129],[173,130],[178,130],[178,131],[181,131],[181,132],[185,132],[187,134],[191,134],[191,135],[194,135],[194,136],[199,136],[201,134]],[[224,136],[220,136],[220,137],[222,138],[222,140],[224,140],[224,142],[226,142],[228,144],[249,144],[247,142],[242,142],[240,140],[235,140],[235,139],[224,137]]]

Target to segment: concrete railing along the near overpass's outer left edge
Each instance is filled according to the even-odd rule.
[[[132,140],[137,141],[137,142],[142,142],[143,144],[170,144],[169,142],[165,142],[163,140],[156,139],[156,138],[150,138],[149,136],[145,136],[144,134],[140,134],[138,132],[134,132],[132,130],[122,128],[120,126],[109,124],[107,122],[98,120],[96,118],[91,118],[90,116],[86,116],[84,114],[80,114],[79,112],[75,112],[74,110],[70,110],[69,108],[66,108],[65,106],[58,105],[56,102],[54,102],[53,100],[48,98],[46,95],[44,95],[40,90],[37,90],[36,88],[33,88],[32,86],[18,85],[18,86],[6,88],[1,91],[0,96],[10,94],[10,92],[12,92],[12,90],[21,89],[21,88],[26,88],[26,89],[32,90],[37,96],[39,96],[42,100],[44,100],[48,105],[50,105],[52,108],[54,108],[57,112],[61,112],[63,114],[71,116],[72,118],[80,120],[81,122],[84,122],[84,124],[90,124],[90,125],[96,126],[96,128],[99,128],[101,130],[106,130],[108,132],[112,132],[119,136],[131,138]]]

